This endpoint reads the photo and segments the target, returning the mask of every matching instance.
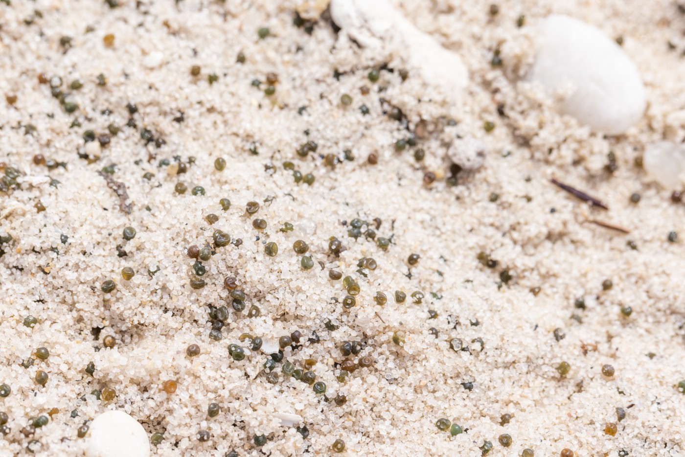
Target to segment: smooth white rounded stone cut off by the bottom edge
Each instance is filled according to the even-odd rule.
[[[90,423],[87,457],[149,457],[150,442],[142,425],[123,411],[103,412]]]

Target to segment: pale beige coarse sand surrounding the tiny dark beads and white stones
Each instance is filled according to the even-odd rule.
[[[635,164],[645,145],[685,137],[685,15],[673,1],[497,1],[494,16],[490,2],[394,2],[462,56],[471,82],[457,101],[401,53],[360,48],[336,33],[325,14],[295,27],[297,8],[318,17],[300,1],[119,0],[114,9],[96,0],[5,3],[0,162],[21,177],[18,188],[0,193],[0,234],[12,236],[0,257],[0,383],[11,388],[0,398],[8,415],[0,454],[82,455],[88,434],[79,438],[79,428],[112,409],[149,435],[164,435],[155,455],[329,455],[336,439],[345,441],[340,455],[360,456],[479,456],[486,441],[493,456],[525,448],[536,456],[564,448],[576,456],[684,454],[677,384],[685,379],[685,208]],[[560,116],[522,79],[534,26],[551,12],[622,38],[648,99],[625,135],[605,137]],[[260,27],[270,36],[260,38]],[[502,66],[493,68],[497,47]],[[241,52],[243,63],[236,62]],[[380,70],[377,82],[367,77],[372,69]],[[264,94],[270,72],[278,78],[271,96]],[[42,73],[62,78],[73,112],[51,96],[49,82],[40,84]],[[218,77],[212,84],[210,75]],[[82,87],[72,90],[76,79]],[[343,94],[351,105],[340,102]],[[391,106],[406,119],[390,119]],[[421,120],[434,132],[396,151]],[[495,128],[486,132],[485,122]],[[120,130],[109,143],[101,138],[105,146],[84,141],[88,130],[108,134],[110,124]],[[489,149],[484,166],[458,173],[454,186],[445,152],[457,136]],[[303,159],[296,150],[308,140],[318,147]],[[425,151],[421,161],[417,149]],[[610,151],[614,171],[606,169]],[[64,165],[35,164],[36,154]],[[328,154],[336,166],[326,164]],[[377,164],[369,163],[372,154]],[[214,169],[216,158],[226,160],[223,171]],[[164,160],[169,165],[160,166]],[[314,183],[295,182],[288,161]],[[186,173],[177,174],[179,164]],[[103,167],[114,173],[99,173]],[[128,199],[103,175],[123,184]],[[564,193],[552,177],[609,210]],[[179,182],[188,187],[183,195],[175,192]],[[192,195],[195,186],[204,195]],[[232,202],[227,211],[222,198]],[[248,201],[260,203],[256,214],[246,213]],[[255,218],[265,230],[253,228]],[[368,221],[376,238],[390,238],[388,249],[351,238],[355,218]],[[285,223],[294,230],[279,231]],[[122,236],[128,226],[136,229],[132,240]],[[216,248],[203,262],[206,286],[192,289],[187,249],[212,243],[216,229],[242,244]],[[345,247],[339,256],[329,253],[332,236]],[[298,239],[309,245],[312,269],[292,249]],[[275,257],[265,254],[272,242]],[[480,252],[497,261],[494,268],[479,262]],[[410,254],[419,254],[417,264],[408,264]],[[357,273],[362,258],[377,263],[366,276]],[[122,278],[124,267],[136,272],[132,280]],[[343,308],[347,291],[329,269],[356,279],[356,306]],[[503,283],[505,271],[511,279]],[[230,304],[227,276],[245,291],[242,312]],[[112,293],[101,291],[106,280],[116,282]],[[404,303],[395,302],[397,290],[408,296]],[[376,291],[387,295],[385,306],[373,301]],[[414,291],[423,293],[421,303]],[[575,306],[580,298],[585,309]],[[208,304],[230,311],[221,341],[209,338]],[[253,305],[258,317],[247,316]],[[33,328],[23,325],[29,315]],[[296,330],[301,343],[284,349],[277,380],[264,368],[270,356],[238,339],[248,333],[274,347]],[[397,330],[406,334],[402,346],[393,343]],[[310,341],[313,332],[319,342]],[[104,346],[105,336],[114,336],[114,347]],[[469,350],[453,351],[452,338]],[[347,358],[368,356],[372,365],[341,382],[338,347],[347,340],[363,347]],[[192,344],[201,354],[190,358]],[[244,360],[229,356],[232,344],[245,348]],[[49,358],[23,367],[38,347]],[[316,360],[325,394],[282,373],[286,361],[303,369],[308,359]],[[571,367],[564,376],[562,361]],[[606,364],[611,377],[601,373]],[[49,375],[45,386],[36,384],[38,370]],[[177,382],[173,393],[163,388],[169,380]],[[91,395],[104,388],[116,391],[113,399]],[[339,394],[343,406],[334,402]],[[208,417],[212,402],[221,406],[216,417]],[[622,421],[616,408],[625,410]],[[279,414],[301,421],[282,425]],[[510,422],[501,425],[505,414]],[[25,436],[39,415],[49,423]],[[464,433],[438,430],[440,418]],[[610,423],[615,436],[605,433]],[[201,431],[208,441],[199,441]],[[501,434],[512,437],[510,447],[499,443]],[[257,447],[261,435],[266,444]]]

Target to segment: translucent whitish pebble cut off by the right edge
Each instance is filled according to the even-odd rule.
[[[685,144],[660,141],[647,146],[645,171],[669,190],[680,190],[685,182]]]

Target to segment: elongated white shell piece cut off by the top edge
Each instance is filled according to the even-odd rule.
[[[332,0],[330,7],[333,21],[354,40],[365,47],[393,45],[427,82],[449,89],[469,82],[460,56],[414,27],[387,0]]]

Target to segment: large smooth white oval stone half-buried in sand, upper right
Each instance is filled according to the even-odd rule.
[[[529,75],[550,92],[569,89],[560,111],[605,134],[621,134],[645,111],[645,87],[619,45],[582,21],[552,14],[540,24]]]

